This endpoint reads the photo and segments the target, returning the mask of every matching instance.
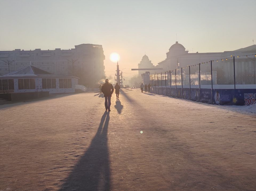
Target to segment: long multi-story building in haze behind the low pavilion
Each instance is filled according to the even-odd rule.
[[[74,49],[0,51],[0,75],[31,65],[57,75],[77,76],[79,84],[93,87],[105,78],[104,60],[102,45],[94,44]]]

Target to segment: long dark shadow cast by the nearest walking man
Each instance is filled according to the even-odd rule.
[[[72,170],[65,183],[63,183],[60,191],[110,190],[109,154],[107,146],[108,124],[109,113],[105,112],[100,120],[97,133],[91,141],[90,147],[76,164],[76,167]]]

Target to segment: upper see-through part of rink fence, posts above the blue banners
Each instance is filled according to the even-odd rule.
[[[256,54],[232,56],[150,75],[152,87],[255,85]],[[209,86],[210,85],[210,86]],[[239,86],[240,88],[241,86]],[[223,88],[225,88],[223,86]],[[231,88],[231,86],[230,86]]]

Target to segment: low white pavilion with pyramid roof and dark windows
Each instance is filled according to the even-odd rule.
[[[74,93],[78,78],[51,74],[33,66],[27,66],[4,76],[0,76],[0,93],[23,93],[49,91],[55,93]]]

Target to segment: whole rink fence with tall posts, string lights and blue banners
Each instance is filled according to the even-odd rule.
[[[256,54],[236,55],[150,75],[151,92],[216,104],[256,103]],[[250,98],[248,102],[247,98]]]

